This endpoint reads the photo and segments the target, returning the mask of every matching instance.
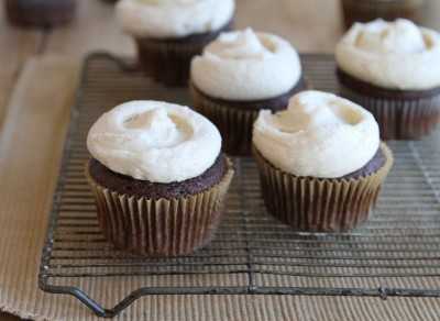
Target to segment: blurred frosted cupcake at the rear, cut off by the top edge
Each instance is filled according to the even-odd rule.
[[[231,29],[234,0],[121,0],[117,15],[138,44],[145,74],[186,86],[191,58]]]

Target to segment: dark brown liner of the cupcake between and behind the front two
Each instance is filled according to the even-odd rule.
[[[256,102],[256,108],[245,109],[239,106],[242,102],[210,99],[208,96],[201,93],[193,84],[189,87],[194,108],[212,121],[219,129],[223,139],[224,152],[232,156],[251,156],[254,122],[258,117],[260,110],[271,109],[270,106]],[[301,79],[300,84],[289,92],[288,98],[307,88],[309,88],[309,84],[307,80]],[[288,101],[288,98],[286,101]],[[262,104],[261,108],[258,104]]]

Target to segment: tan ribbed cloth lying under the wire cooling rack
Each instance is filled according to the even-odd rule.
[[[36,320],[94,320],[76,299],[37,289],[47,211],[78,65],[30,60],[0,139],[0,308]],[[111,300],[109,281],[101,300]],[[294,296],[152,296],[118,320],[438,320],[440,299]]]

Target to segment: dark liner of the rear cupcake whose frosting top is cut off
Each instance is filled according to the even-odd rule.
[[[187,86],[193,57],[232,25],[231,21],[219,31],[176,40],[135,38],[141,67],[146,76],[166,86]]]

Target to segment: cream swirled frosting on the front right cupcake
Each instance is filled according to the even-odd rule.
[[[274,166],[296,175],[338,178],[365,166],[377,153],[380,131],[362,107],[331,93],[302,91],[287,110],[263,110],[253,144]]]

